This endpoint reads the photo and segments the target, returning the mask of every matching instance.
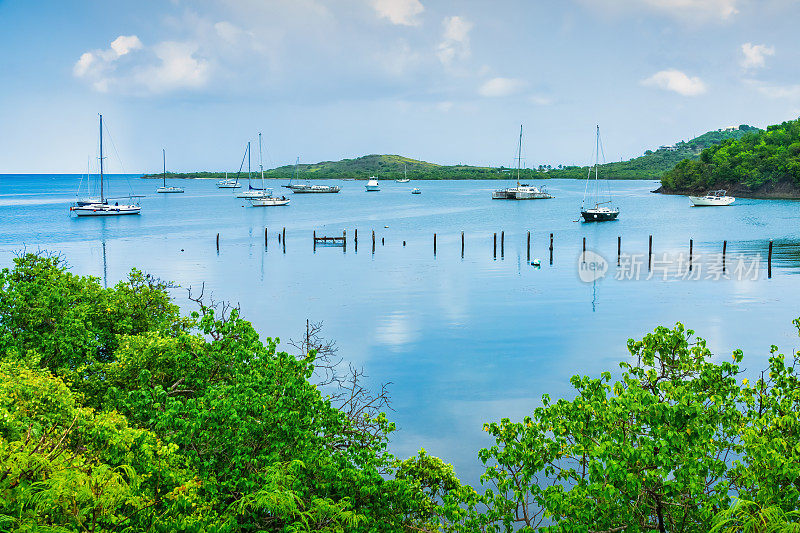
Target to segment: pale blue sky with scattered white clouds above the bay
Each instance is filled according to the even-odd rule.
[[[800,0],[0,0],[0,173],[609,161],[800,115]],[[108,139],[107,139],[108,140]],[[110,146],[109,146],[110,145]],[[257,165],[253,148],[253,165]],[[94,165],[94,163],[92,163]]]

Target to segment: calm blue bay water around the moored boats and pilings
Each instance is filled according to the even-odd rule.
[[[323,321],[346,361],[363,367],[372,383],[392,382],[391,418],[399,428],[394,451],[407,456],[425,447],[470,482],[480,473],[476,452],[489,444],[483,422],[522,417],[544,393],[569,394],[574,373],[614,370],[627,356],[625,341],[657,325],[684,322],[719,357],[742,348],[752,373],[762,368],[770,344],[800,345],[791,325],[800,316],[800,204],[793,201],[690,208],[684,197],[651,194],[654,182],[615,182],[620,220],[592,225],[575,221],[584,184],[570,180],[547,183],[555,199],[517,203],[493,202],[494,182],[382,182],[380,192],[366,193],[364,182],[344,181],[338,195],[291,195],[288,207],[251,208],[213,181],[183,180],[185,194],[156,195],[157,182],[131,178],[137,193],[148,194],[141,216],[76,219],[67,206],[78,180],[0,176],[3,266],[23,248],[41,248],[63,252],[73,271],[109,285],[132,267],[182,287],[205,283],[207,294],[238,302],[263,336],[284,344],[301,337],[307,318]],[[270,186],[285,191],[279,183]],[[414,186],[423,194],[412,196]],[[112,188],[127,193],[122,178]],[[277,239],[283,227],[285,253]],[[352,237],[356,228],[357,251],[350,243],[346,251],[314,252],[314,230],[341,235],[346,229]],[[527,261],[527,231],[531,259],[540,259],[541,268]],[[623,254],[637,255],[630,264],[643,262],[638,280],[616,279],[635,273],[624,257],[616,266],[618,235]],[[583,237],[587,249],[610,263],[596,283],[579,279]],[[700,279],[678,276],[690,238],[693,277]],[[715,254],[726,239],[732,279],[714,279],[721,264]],[[776,242],[772,279],[769,239]],[[735,269],[744,266],[748,279],[736,279]],[[185,294],[175,291],[188,307]]]

